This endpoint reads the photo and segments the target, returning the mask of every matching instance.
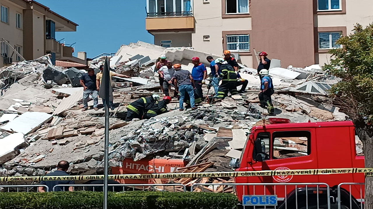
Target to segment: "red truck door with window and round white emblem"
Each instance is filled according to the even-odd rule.
[[[317,168],[315,136],[313,129],[294,131],[268,131],[255,137],[253,161],[248,170],[298,170]],[[251,168],[251,169],[250,169]],[[264,176],[248,177],[249,183],[309,183],[318,182],[318,176]],[[286,187],[291,192],[290,187]],[[295,188],[294,188],[295,189]],[[264,192],[264,188],[261,189]],[[276,191],[280,188],[276,187]],[[260,188],[256,188],[259,194]],[[266,194],[273,194],[274,187],[266,187]],[[278,192],[276,192],[278,193]],[[282,191],[282,196],[284,192]],[[264,194],[264,193],[263,193]],[[279,195],[279,194],[278,194]]]

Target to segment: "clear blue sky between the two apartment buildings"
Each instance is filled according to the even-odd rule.
[[[76,32],[56,32],[56,39],[74,44],[88,58],[115,53],[120,45],[144,41],[153,43],[145,30],[145,0],[37,0],[53,12],[79,26]]]

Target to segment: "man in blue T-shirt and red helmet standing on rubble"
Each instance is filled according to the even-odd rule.
[[[192,69],[192,78],[194,80],[195,88],[197,89],[198,96],[203,98],[202,84],[205,84],[207,78],[207,70],[204,64],[200,62],[200,58],[193,57],[192,63],[194,67]]]

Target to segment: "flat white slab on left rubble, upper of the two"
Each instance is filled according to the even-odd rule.
[[[41,125],[52,119],[52,115],[44,112],[25,112],[7,123],[0,129],[8,132],[29,134],[36,131]]]

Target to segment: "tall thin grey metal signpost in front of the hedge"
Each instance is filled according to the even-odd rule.
[[[105,58],[105,65],[103,74],[105,73],[106,76],[103,76],[105,78],[105,153],[104,153],[104,209],[107,209],[107,178],[108,178],[108,172],[109,172],[109,84],[110,82],[110,76],[109,76],[109,63],[107,60],[107,57]]]

